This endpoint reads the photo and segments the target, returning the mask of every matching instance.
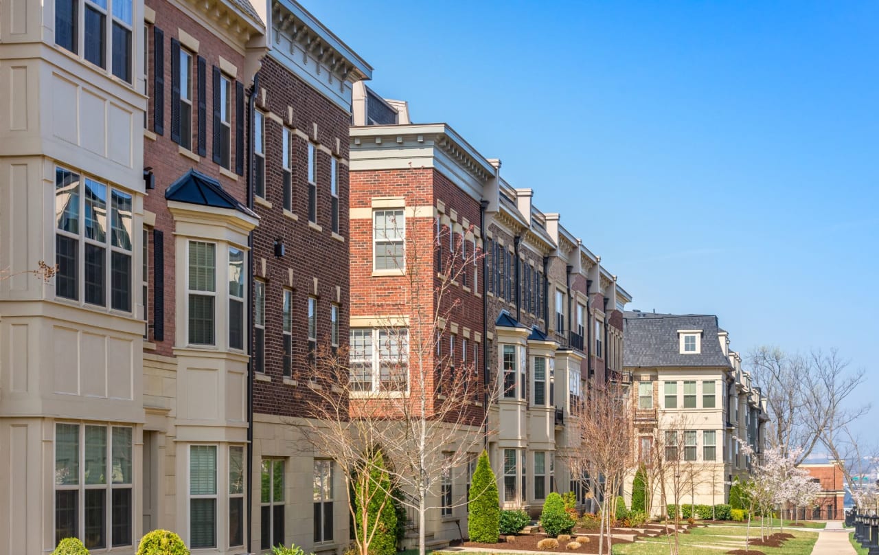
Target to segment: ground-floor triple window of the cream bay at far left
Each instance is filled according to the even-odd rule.
[[[55,424],[55,544],[132,544],[132,428]],[[80,518],[80,515],[83,515]]]

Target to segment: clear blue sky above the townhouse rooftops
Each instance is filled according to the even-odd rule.
[[[879,400],[879,3],[302,1],[630,307],[716,314],[742,353],[839,347]]]

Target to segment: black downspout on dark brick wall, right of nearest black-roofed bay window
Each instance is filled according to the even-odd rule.
[[[247,208],[253,209],[253,126],[255,121],[253,113],[256,110],[257,94],[259,92],[259,72],[253,76],[251,98],[248,99],[248,107],[251,112],[247,121]],[[247,290],[251,296],[251,307],[247,310],[247,347],[253,348],[253,231],[247,236],[247,247],[250,256],[247,257]],[[251,551],[253,529],[253,357],[247,361],[247,471],[250,478],[247,480],[247,551]]]

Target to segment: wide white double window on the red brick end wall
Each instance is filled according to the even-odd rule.
[[[352,391],[409,388],[409,331],[351,328],[348,332]],[[374,349],[373,346],[378,348]]]

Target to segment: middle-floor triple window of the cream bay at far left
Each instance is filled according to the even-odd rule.
[[[132,196],[57,168],[55,207],[55,295],[106,306],[109,282],[110,308],[131,312]]]

